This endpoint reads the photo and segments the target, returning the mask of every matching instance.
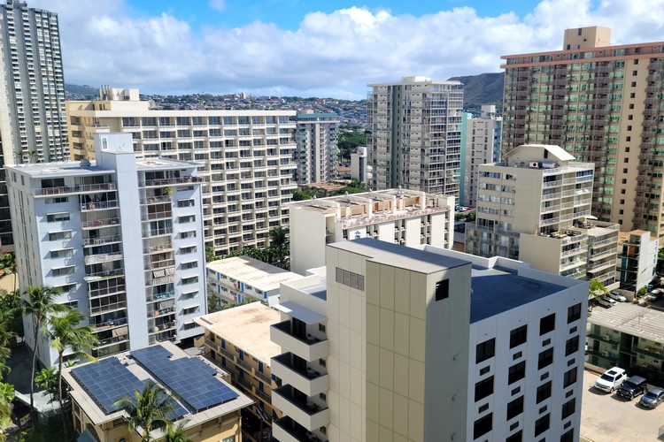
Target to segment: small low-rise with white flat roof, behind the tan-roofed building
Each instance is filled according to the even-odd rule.
[[[282,282],[302,278],[251,256],[235,256],[212,261],[207,268],[207,286],[219,304],[241,303],[250,299],[272,305],[278,301]]]

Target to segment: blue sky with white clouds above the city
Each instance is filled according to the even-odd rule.
[[[361,99],[367,84],[500,72],[500,56],[561,49],[567,27],[664,38],[664,0],[27,0],[58,12],[65,80]]]

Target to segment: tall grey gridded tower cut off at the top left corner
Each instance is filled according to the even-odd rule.
[[[69,158],[58,14],[0,4],[0,168]],[[12,245],[4,170],[0,171],[0,248]]]

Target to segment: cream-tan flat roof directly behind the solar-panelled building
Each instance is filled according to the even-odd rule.
[[[282,322],[281,314],[259,301],[194,318],[213,334],[242,348],[270,365],[270,358],[282,354],[282,347],[270,340],[270,325]]]

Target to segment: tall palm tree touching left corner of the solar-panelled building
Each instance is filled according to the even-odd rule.
[[[73,355],[78,359],[87,358],[90,361],[96,361],[95,357],[86,352],[86,350],[95,347],[97,343],[95,327],[93,325],[79,326],[83,319],[85,318],[81,312],[74,309],[69,309],[61,315],[50,316],[48,319],[50,328],[47,335],[50,339],[50,347],[58,350],[58,404],[64,420],[65,437],[67,435],[67,420],[62,400],[62,363],[65,351],[66,349],[72,350]]]

